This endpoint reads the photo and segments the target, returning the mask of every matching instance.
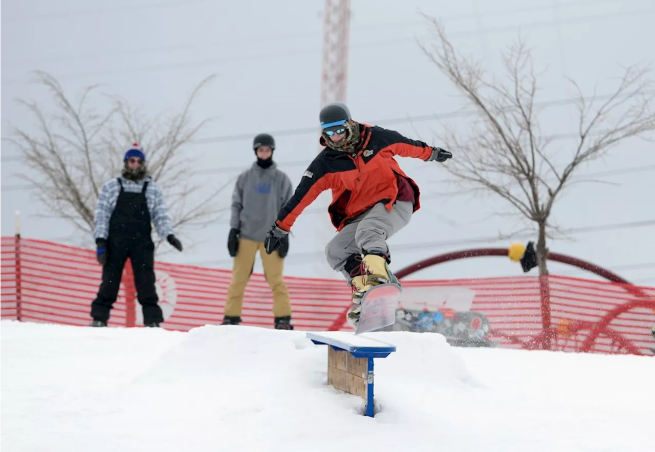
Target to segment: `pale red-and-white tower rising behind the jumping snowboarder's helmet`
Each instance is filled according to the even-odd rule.
[[[350,38],[350,0],[326,0],[323,10],[321,107],[345,102]]]

